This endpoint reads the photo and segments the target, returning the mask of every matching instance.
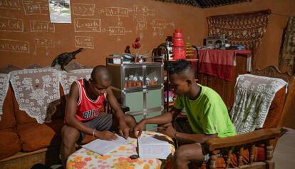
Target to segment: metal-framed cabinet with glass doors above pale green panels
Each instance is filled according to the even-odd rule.
[[[136,122],[160,115],[163,110],[163,63],[120,63],[108,61],[115,97],[128,106]],[[146,130],[156,130],[157,125],[146,125]]]

